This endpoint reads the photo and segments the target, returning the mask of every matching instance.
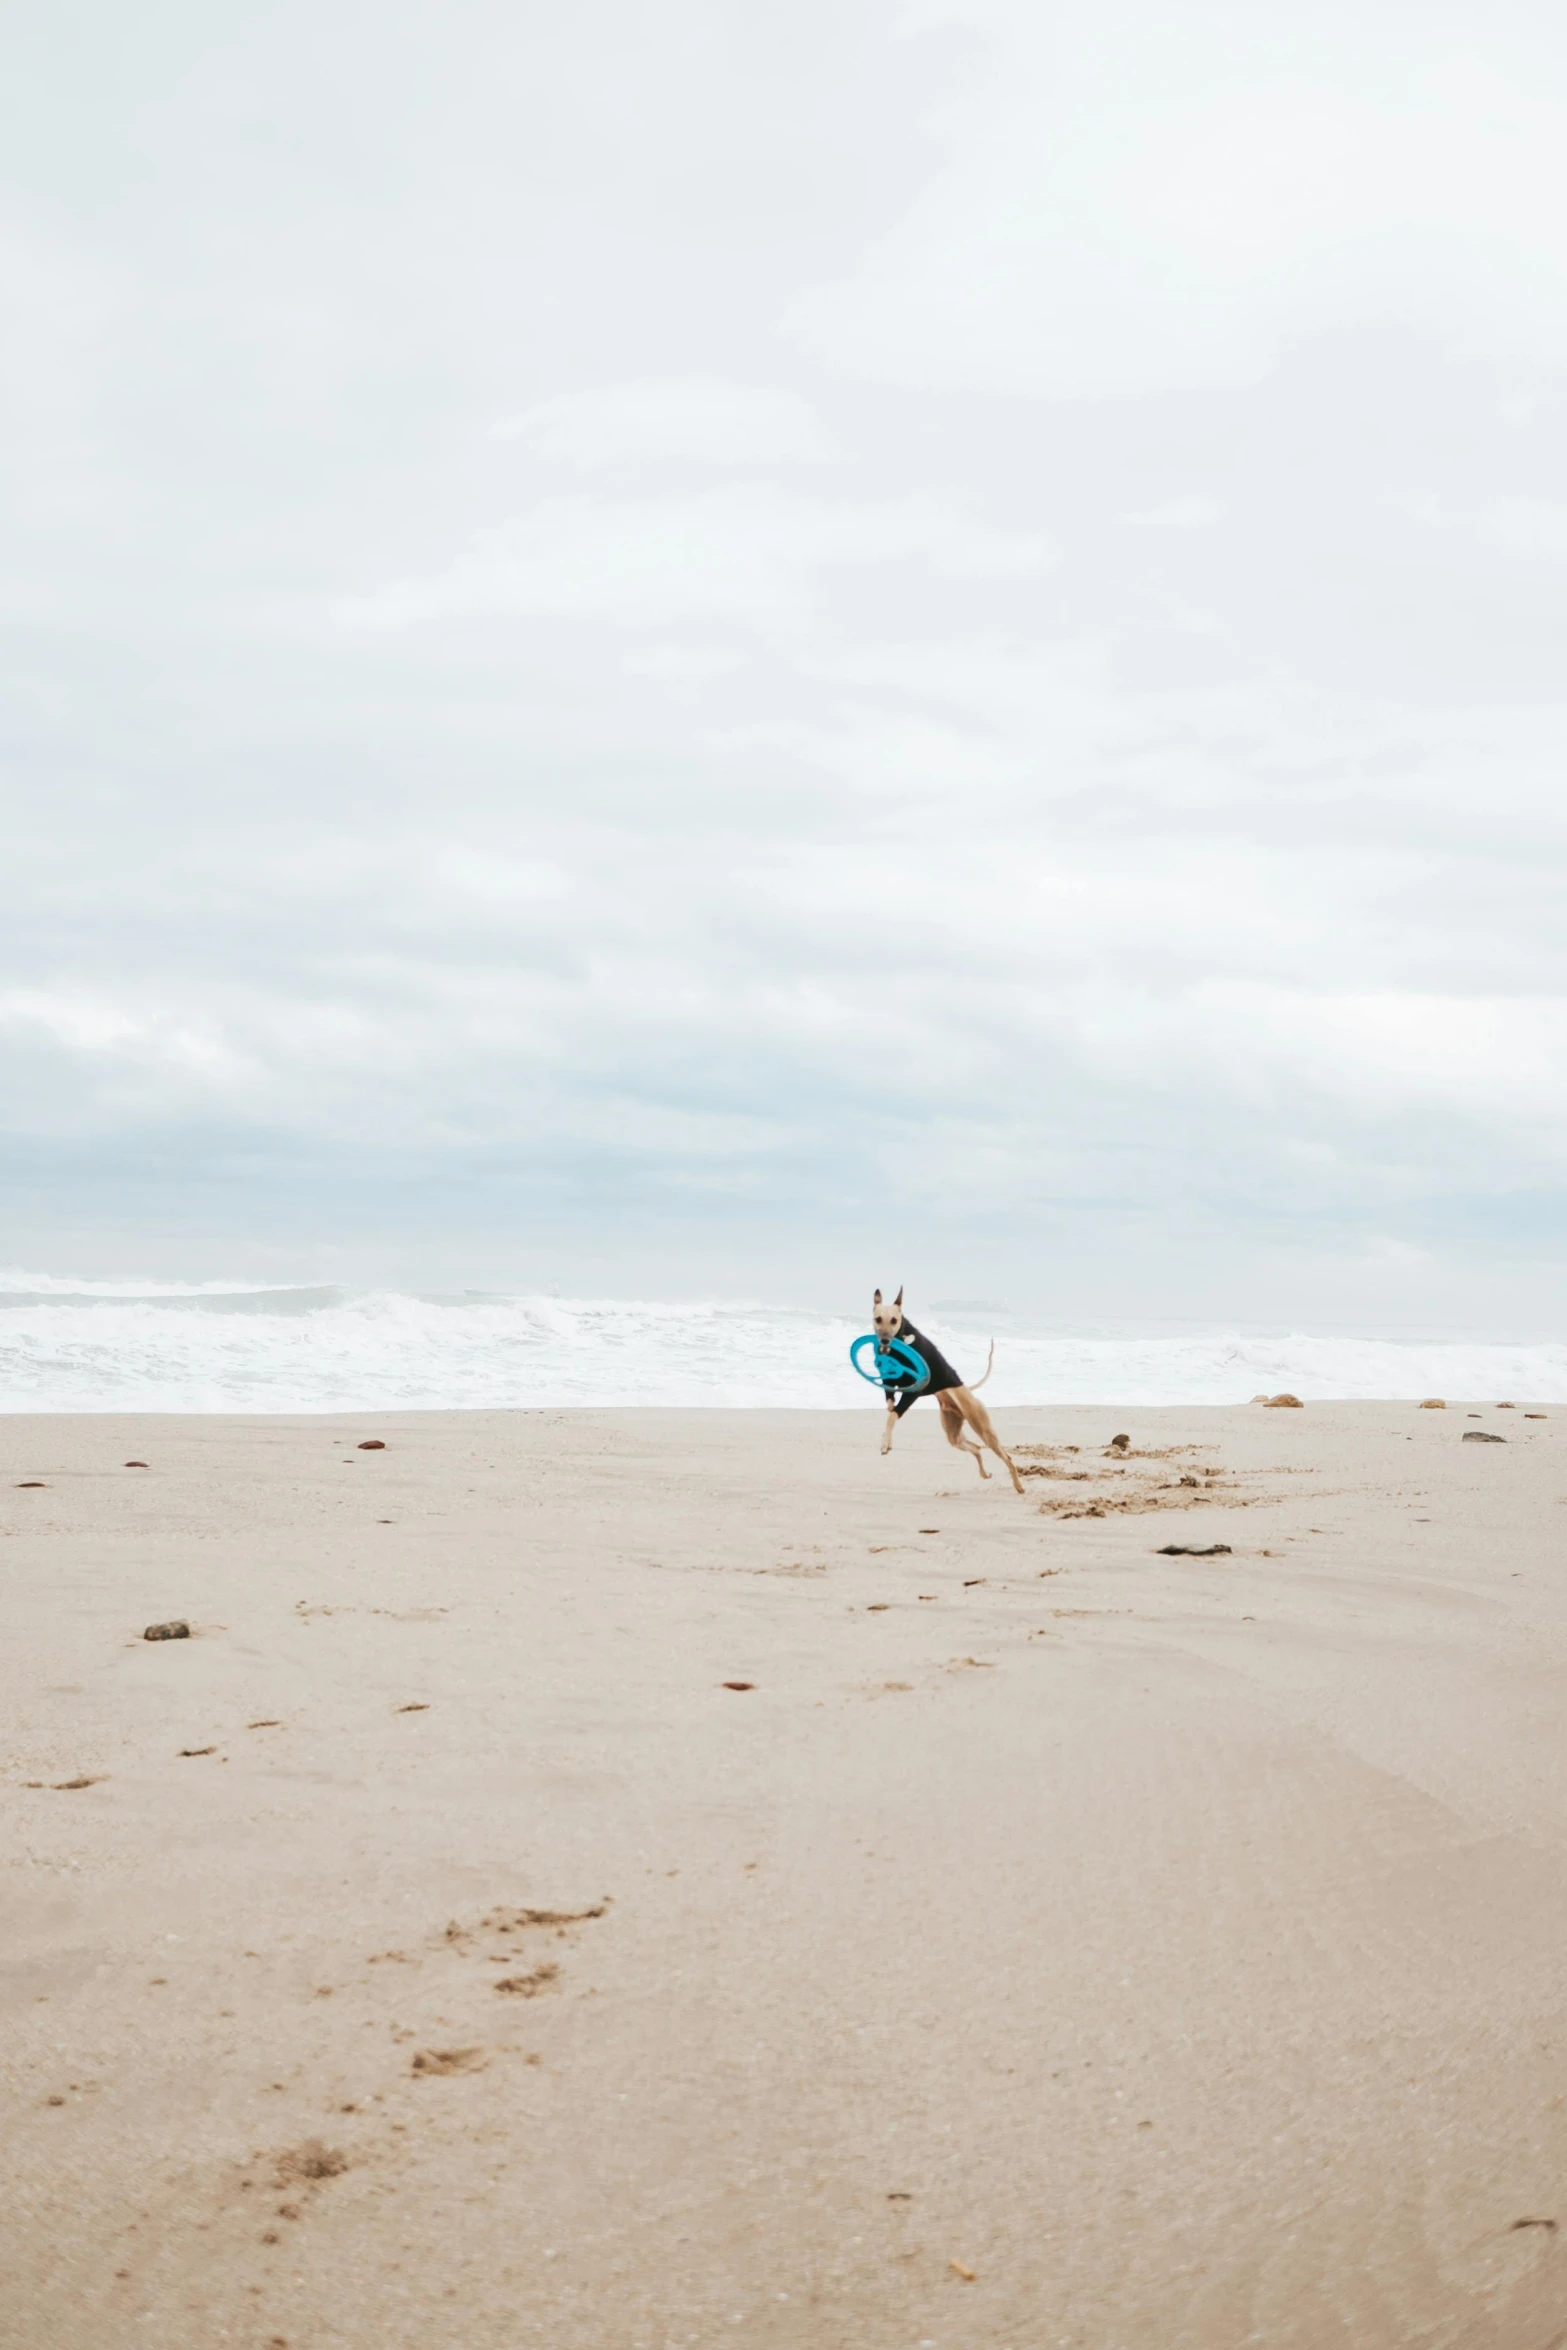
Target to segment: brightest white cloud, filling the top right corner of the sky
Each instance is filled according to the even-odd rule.
[[[1341,9],[942,12],[942,167],[787,313],[832,367],[1055,397],[1257,381],[1353,324],[1567,362],[1567,45]],[[1419,21],[1419,38],[1410,40]]]

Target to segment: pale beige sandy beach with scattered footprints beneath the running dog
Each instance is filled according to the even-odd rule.
[[[998,1419],[0,1422],[5,2343],[1567,2343],[1567,1412]]]

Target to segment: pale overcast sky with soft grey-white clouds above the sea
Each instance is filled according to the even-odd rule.
[[[1567,19],[49,0],[0,1260],[1548,1330]]]

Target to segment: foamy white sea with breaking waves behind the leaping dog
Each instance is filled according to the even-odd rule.
[[[1567,1403],[1567,1347],[1224,1330],[1043,1332],[968,1309],[930,1337],[991,1403],[1245,1403],[1452,1396]],[[0,1271],[0,1410],[348,1412],[479,1405],[879,1410],[848,1365],[860,1318],[759,1304],[460,1295],[258,1283],[68,1281]]]

